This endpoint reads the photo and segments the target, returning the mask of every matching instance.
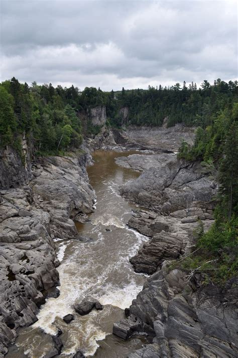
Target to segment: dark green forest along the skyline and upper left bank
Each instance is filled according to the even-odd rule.
[[[13,77],[0,84],[0,145],[20,148],[25,134],[39,153],[77,149],[82,135],[100,130],[90,122],[90,108],[95,106],[105,106],[107,126],[161,126],[167,118],[167,126],[183,123],[205,129],[216,113],[230,110],[237,98],[237,81],[220,79],[212,85],[204,80],[199,89],[196,83],[187,86],[184,82],[182,86],[103,92],[94,87],[83,91],[73,85],[53,87],[51,83],[29,86]],[[123,107],[129,108],[126,123]]]

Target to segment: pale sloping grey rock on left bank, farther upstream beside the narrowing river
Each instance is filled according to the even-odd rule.
[[[93,211],[95,194],[88,183],[86,157],[47,157],[33,166],[32,188],[35,204],[49,212],[51,233],[60,238],[76,238],[73,219]]]

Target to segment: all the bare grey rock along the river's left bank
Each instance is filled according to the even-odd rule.
[[[93,210],[85,164],[85,155],[45,158],[29,185],[0,191],[0,356],[19,327],[37,320],[45,297],[58,295],[53,238],[78,238],[75,215]]]

